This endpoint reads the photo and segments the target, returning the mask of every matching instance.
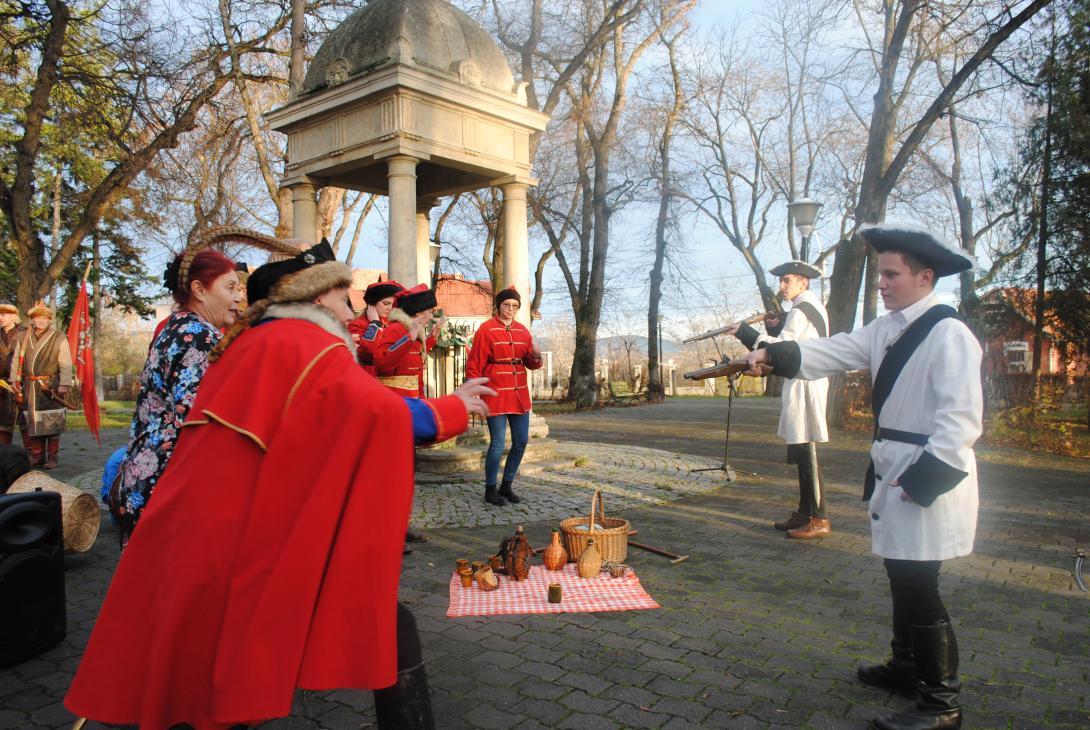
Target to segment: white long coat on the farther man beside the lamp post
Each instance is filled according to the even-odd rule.
[[[825,320],[825,331],[828,331],[828,313],[821,299],[810,291],[804,291],[791,304],[797,307],[802,302],[809,302]],[[762,342],[783,342],[794,340],[804,342],[821,338],[818,328],[798,308],[787,313],[784,329],[777,337],[762,334],[756,344]],[[755,345],[754,345],[755,346]],[[779,428],[776,434],[787,443],[806,443],[807,441],[827,441],[828,428],[825,425],[825,402],[828,400],[828,380],[803,380],[790,378],[784,381],[784,392],[780,396]]]

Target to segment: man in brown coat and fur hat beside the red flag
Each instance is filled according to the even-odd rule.
[[[29,436],[29,419],[39,411],[64,407],[61,399],[72,387],[72,352],[68,339],[53,327],[52,309],[39,304],[26,314],[31,329],[20,338],[11,364],[11,382],[23,398],[23,445],[31,452],[32,466],[57,469],[60,434]]]

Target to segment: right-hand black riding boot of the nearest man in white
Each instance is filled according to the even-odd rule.
[[[912,626],[912,648],[920,693],[916,704],[888,717],[874,719],[877,730],[956,730],[961,727],[957,677],[957,638],[948,621]]]

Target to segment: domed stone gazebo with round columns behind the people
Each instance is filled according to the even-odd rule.
[[[429,283],[429,209],[499,187],[502,283],[529,301],[530,136],[548,117],[526,107],[524,88],[488,33],[447,0],[355,11],[315,54],[302,94],[267,117],[288,136],[293,235],[314,240],[319,187],[387,195],[389,277]],[[519,314],[529,325],[530,307]]]

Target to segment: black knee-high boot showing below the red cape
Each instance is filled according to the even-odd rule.
[[[398,604],[398,683],[375,690],[379,730],[435,730],[416,620]]]

